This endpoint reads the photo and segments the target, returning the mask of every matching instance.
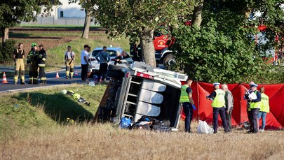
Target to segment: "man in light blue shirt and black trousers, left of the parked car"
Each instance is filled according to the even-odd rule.
[[[88,73],[88,52],[90,52],[90,46],[84,45],[84,50],[81,52],[81,79],[82,82],[86,82]]]

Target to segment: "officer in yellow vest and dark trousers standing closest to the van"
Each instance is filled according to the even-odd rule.
[[[189,133],[191,133],[191,120],[194,117],[194,110],[196,110],[194,99],[192,98],[192,89],[190,87],[192,82],[192,78],[187,79],[186,84],[182,85],[182,93],[180,95],[180,103],[182,103],[185,114],[184,131]]]

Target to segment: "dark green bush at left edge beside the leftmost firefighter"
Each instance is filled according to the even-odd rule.
[[[4,44],[0,45],[0,63],[7,64],[13,62],[13,52],[15,50],[15,41],[7,40]]]

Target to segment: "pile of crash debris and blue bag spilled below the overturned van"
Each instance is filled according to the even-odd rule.
[[[145,129],[151,131],[170,132],[170,121],[154,119],[153,117],[142,116],[136,123],[127,117],[122,117],[119,123],[121,129]]]

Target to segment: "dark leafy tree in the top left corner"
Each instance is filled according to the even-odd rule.
[[[20,22],[35,21],[36,16],[48,12],[58,0],[9,0],[0,2],[0,29],[2,31],[2,44],[8,39],[10,27],[15,27]]]

